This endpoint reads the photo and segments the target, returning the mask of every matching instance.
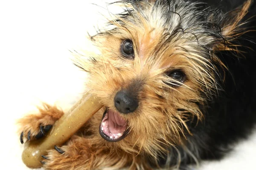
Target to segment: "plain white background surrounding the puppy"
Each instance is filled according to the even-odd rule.
[[[41,101],[67,110],[84,91],[85,74],[73,66],[68,49],[88,49],[108,11],[102,0],[0,1],[0,169],[26,170],[15,121]],[[112,11],[113,10],[113,11]],[[116,12],[111,9],[111,12]],[[90,49],[90,48],[89,48]],[[252,170],[256,135],[223,161],[200,170]]]

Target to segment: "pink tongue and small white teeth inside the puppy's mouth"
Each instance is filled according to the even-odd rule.
[[[105,135],[108,135],[110,139],[118,139],[127,128],[127,122],[122,119],[117,112],[108,110],[105,117],[102,119],[101,130]]]

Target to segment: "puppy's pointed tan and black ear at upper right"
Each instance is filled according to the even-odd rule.
[[[247,0],[239,8],[221,16],[219,26],[221,27],[221,36],[226,42],[215,46],[215,51],[234,50],[232,48],[232,42],[239,36],[248,32],[244,27],[244,16],[247,14],[251,3],[252,0]]]

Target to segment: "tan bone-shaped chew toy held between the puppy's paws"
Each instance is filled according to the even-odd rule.
[[[47,150],[53,149],[55,145],[66,142],[101,108],[99,98],[90,93],[84,95],[80,101],[56,121],[45,138],[26,142],[22,153],[23,163],[30,168],[41,167],[41,155],[44,155]]]

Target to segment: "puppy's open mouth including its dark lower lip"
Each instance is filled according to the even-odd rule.
[[[120,141],[127,135],[128,122],[121,118],[119,112],[106,109],[99,124],[99,134],[107,141]]]

